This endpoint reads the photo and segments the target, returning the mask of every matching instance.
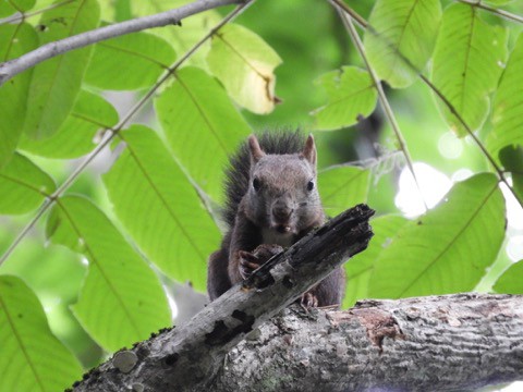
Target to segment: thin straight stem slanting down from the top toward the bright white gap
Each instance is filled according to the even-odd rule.
[[[422,187],[419,186],[419,182],[417,181],[417,176],[416,176],[416,173],[414,171],[414,164],[412,163],[412,158],[411,158],[411,155],[409,154],[409,148],[406,147],[405,139],[403,137],[403,134],[401,133],[401,130],[400,130],[400,126],[399,126],[398,122],[396,121],[394,112],[392,111],[392,108],[390,107],[389,100],[387,99],[387,96],[384,91],[384,88],[381,86],[379,77],[376,74],[376,72],[373,70],[370,63],[368,62],[367,56],[365,53],[365,49],[363,48],[363,42],[360,39],[360,36],[357,35],[357,32],[354,27],[354,24],[352,23],[352,16],[345,12],[345,8],[338,7],[337,1],[335,1],[335,0],[329,0],[329,1],[338,10],[338,13],[340,14],[340,16],[342,19],[343,24],[345,25],[345,27],[349,32],[349,35],[351,36],[351,39],[354,42],[354,46],[356,47],[356,49],[360,53],[360,57],[363,59],[363,61],[365,63],[365,66],[368,71],[370,77],[373,78],[374,86],[376,87],[376,90],[378,91],[379,102],[381,103],[381,106],[384,108],[384,111],[385,111],[385,114],[386,114],[387,119],[389,120],[390,126],[392,127],[392,131],[393,131],[393,133],[396,135],[396,138],[398,140],[398,144],[400,146],[400,150],[403,152],[403,156],[405,157],[406,166],[408,166],[410,172],[412,173],[412,176],[414,179],[414,183],[416,184],[417,191],[419,192],[419,196],[422,197],[422,201],[425,206],[425,209],[428,210],[428,206],[425,201],[425,198],[423,197]],[[349,8],[346,7],[346,9],[349,9]],[[360,20],[360,22],[362,22],[362,17],[360,17],[358,20]],[[367,26],[368,26],[368,24],[367,24]]]

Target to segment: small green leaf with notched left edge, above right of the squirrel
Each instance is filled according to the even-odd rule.
[[[368,117],[378,97],[370,75],[355,66],[342,66],[316,79],[329,97],[327,105],[311,112],[316,118],[316,130],[339,130]]]

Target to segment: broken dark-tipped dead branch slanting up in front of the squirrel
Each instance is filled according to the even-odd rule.
[[[117,354],[75,391],[199,391],[226,354],[349,257],[364,250],[374,211],[360,205],[275,256],[190,322]]]

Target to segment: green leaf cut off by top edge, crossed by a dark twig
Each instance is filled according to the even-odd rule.
[[[441,19],[439,0],[378,0],[365,32],[368,60],[394,88],[410,86],[434,49]]]

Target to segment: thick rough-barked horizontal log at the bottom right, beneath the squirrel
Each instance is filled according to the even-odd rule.
[[[350,283],[349,283],[350,284]],[[523,380],[523,296],[287,309],[234,347],[210,391],[471,391]]]

